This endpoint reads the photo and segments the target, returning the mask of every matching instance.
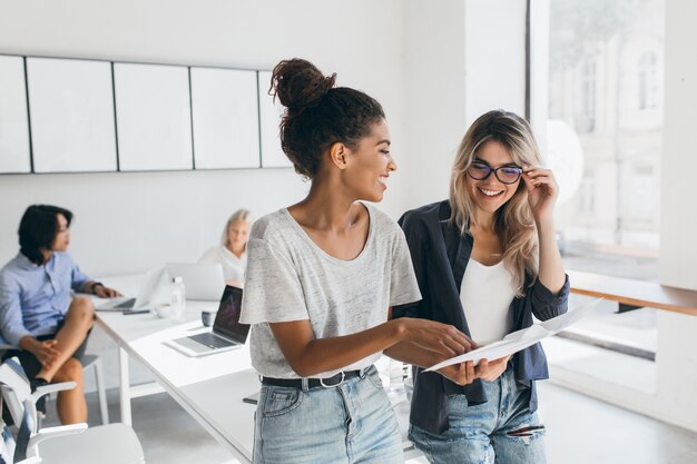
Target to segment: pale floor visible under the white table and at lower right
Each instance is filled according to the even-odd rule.
[[[99,409],[94,395],[89,395],[89,403],[94,412],[90,423],[98,425]],[[110,414],[117,419],[116,391],[109,392],[109,404]],[[132,414],[148,464],[235,463],[225,448],[166,394],[135,399]],[[540,417],[548,428],[550,464],[697,463],[696,433],[550,383],[540,383]],[[51,421],[46,421],[45,425],[51,425]]]

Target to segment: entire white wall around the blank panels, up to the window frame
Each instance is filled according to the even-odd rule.
[[[383,103],[399,169],[381,207],[396,218],[448,196],[469,122],[499,107],[522,113],[524,4],[0,0],[0,53],[253,69],[307,58]],[[289,169],[2,176],[0,261],[32,203],[73,210],[71,251],[99,276],[195,259],[236,208],[261,216],[306,188]]]

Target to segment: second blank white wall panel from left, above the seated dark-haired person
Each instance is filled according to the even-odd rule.
[[[27,58],[35,172],[116,170],[111,63]]]

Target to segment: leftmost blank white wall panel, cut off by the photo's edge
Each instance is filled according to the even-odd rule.
[[[31,172],[22,57],[0,56],[0,172]]]

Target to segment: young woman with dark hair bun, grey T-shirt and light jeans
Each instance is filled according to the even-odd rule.
[[[389,320],[421,298],[399,226],[380,201],[396,165],[382,107],[301,60],[272,76],[283,150],[311,180],[300,203],[258,219],[247,244],[242,322],[262,377],[254,462],[402,463],[400,430],[373,362],[410,340],[443,358],[454,327]]]

